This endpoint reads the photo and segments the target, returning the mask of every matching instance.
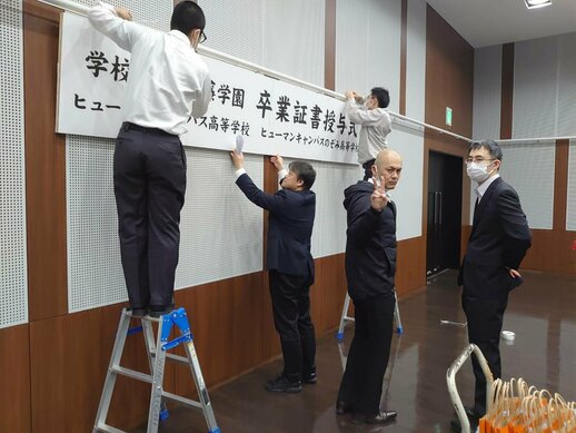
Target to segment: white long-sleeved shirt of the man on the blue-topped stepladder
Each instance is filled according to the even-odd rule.
[[[212,97],[208,67],[185,33],[123,20],[105,2],[88,11],[88,20],[131,52],[122,121],[181,135],[191,117],[206,114]]]

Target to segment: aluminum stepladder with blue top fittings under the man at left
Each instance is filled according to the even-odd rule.
[[[201,410],[208,425],[208,432],[220,433],[220,429],[216,424],[210,397],[208,396],[208,390],[206,388],[206,384],[203,382],[200,363],[198,362],[192,333],[190,331],[190,325],[188,323],[185,308],[180,307],[159,318],[150,316],[135,317],[141,319],[142,326],[133,329],[129,328],[131,317],[132,313],[127,308],[123,308],[120,315],[120,323],[118,324],[112,356],[110,357],[110,364],[108,366],[108,373],[106,375],[105,386],[100,397],[100,404],[98,406],[98,413],[96,415],[92,433],[122,433],[121,430],[106,424],[106,419],[108,416],[108,410],[110,407],[110,401],[112,398],[113,387],[118,375],[147,382],[152,385],[150,393],[150,409],[148,412],[147,433],[157,433],[160,421],[168,417],[168,411],[166,409],[163,398],[170,398],[188,406]],[[158,336],[156,343],[153,337],[152,322],[158,323]],[[169,341],[168,338],[170,336],[170,332],[175,326],[180,331],[180,336]],[[120,365],[127,336],[139,331],[142,331],[145,335],[146,350],[148,352],[148,361],[151,374],[140,373],[122,367]],[[183,344],[183,348],[187,355],[186,357],[167,353],[167,351],[180,344]],[[163,391],[162,384],[167,360],[177,361],[190,366],[196,384],[196,390],[198,391],[199,402]]]

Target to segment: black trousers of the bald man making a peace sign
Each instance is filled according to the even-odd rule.
[[[338,400],[354,412],[374,415],[379,411],[395,305],[394,294],[354,301],[354,338],[338,391]]]

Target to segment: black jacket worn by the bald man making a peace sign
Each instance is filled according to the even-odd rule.
[[[347,210],[346,278],[354,301],[394,295],[396,274],[396,206],[374,210],[374,186],[359,181],[345,190]]]

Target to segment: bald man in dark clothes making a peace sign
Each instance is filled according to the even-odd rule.
[[[355,424],[386,424],[396,419],[396,412],[380,411],[380,396],[396,303],[396,206],[387,191],[396,188],[401,169],[400,155],[380,150],[373,178],[344,193],[346,278],[356,321],[336,413],[352,413]]]

